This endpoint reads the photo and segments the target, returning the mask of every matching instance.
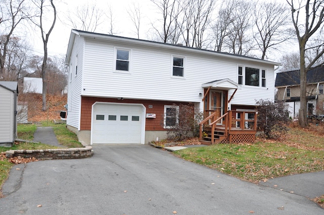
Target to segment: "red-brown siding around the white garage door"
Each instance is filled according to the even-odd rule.
[[[166,131],[163,128],[164,120],[164,106],[165,105],[179,105],[176,102],[170,101],[148,101],[148,100],[117,100],[112,98],[98,98],[98,97],[82,97],[81,108],[81,126],[80,130],[91,130],[91,113],[92,105],[95,102],[114,102],[114,103],[132,103],[143,104],[146,108],[146,113],[155,113],[156,118],[146,118],[145,131]],[[181,103],[189,104],[189,103]],[[152,108],[149,108],[152,105]]]

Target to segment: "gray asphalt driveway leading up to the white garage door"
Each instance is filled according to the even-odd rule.
[[[0,213],[324,213],[301,195],[243,182],[148,145],[93,148],[92,158],[14,166],[3,187]]]

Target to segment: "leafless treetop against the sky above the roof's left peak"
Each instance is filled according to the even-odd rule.
[[[68,13],[68,25],[74,29],[95,32],[104,22],[104,11],[94,3],[79,5],[75,11]]]

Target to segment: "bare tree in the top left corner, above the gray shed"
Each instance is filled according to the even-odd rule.
[[[29,19],[32,15],[29,14],[30,9],[27,7],[25,0],[2,0],[0,4],[2,12],[1,29],[0,29],[0,78],[6,72],[6,58],[10,40],[17,26],[24,20]]]

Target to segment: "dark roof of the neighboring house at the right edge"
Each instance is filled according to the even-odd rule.
[[[318,66],[307,72],[307,83],[324,82],[324,66]],[[300,84],[300,70],[279,72],[275,78],[274,87],[285,87]]]

